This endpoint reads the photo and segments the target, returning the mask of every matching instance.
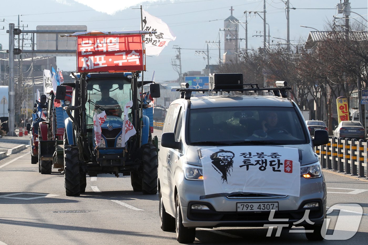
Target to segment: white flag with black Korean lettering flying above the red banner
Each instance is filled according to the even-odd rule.
[[[170,41],[176,39],[176,36],[174,36],[169,26],[161,19],[148,14],[144,10],[142,10],[142,15],[142,30],[157,32],[155,34],[145,35],[144,37],[146,55],[159,55]]]

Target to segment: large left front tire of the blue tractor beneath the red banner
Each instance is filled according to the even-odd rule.
[[[79,151],[78,146],[75,145],[64,147],[64,185],[67,196],[81,194]]]

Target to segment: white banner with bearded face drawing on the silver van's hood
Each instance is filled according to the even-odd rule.
[[[201,150],[205,195],[267,193],[300,195],[296,148],[224,146]]]

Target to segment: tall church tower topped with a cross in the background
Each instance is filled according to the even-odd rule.
[[[239,21],[233,16],[233,10],[233,6],[231,6],[231,15],[224,20],[224,62],[237,62],[239,57],[237,54],[239,52]]]

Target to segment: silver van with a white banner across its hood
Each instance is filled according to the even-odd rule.
[[[316,130],[311,139],[301,111],[286,96],[290,88],[252,84],[236,90],[274,96],[191,98],[198,89],[183,86],[182,98],[167,111],[158,155],[162,230],[176,230],[178,242],[190,243],[196,227],[276,222],[304,226],[313,230],[308,239],[323,239],[326,184],[313,147],[326,144],[328,132]]]

